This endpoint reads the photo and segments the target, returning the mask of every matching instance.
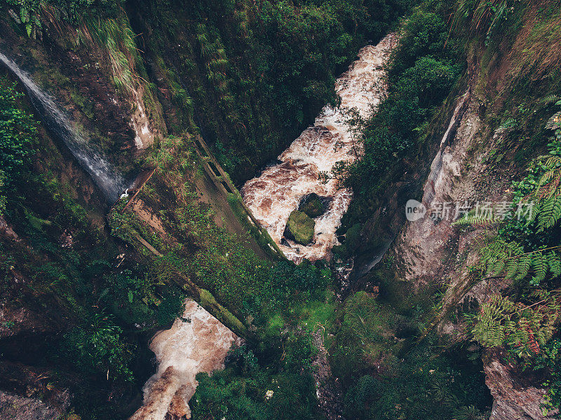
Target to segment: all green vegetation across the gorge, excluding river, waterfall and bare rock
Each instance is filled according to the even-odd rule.
[[[70,54],[101,57],[101,76],[112,78],[119,98],[142,93],[151,120],[150,109],[162,106],[171,133],[162,124],[160,140],[135,162],[155,172],[134,205],[125,208],[127,200],[121,200],[106,218],[87,177],[48,134],[37,137],[20,94],[0,79],[0,213],[21,238],[1,238],[0,291],[15,307],[27,304],[55,325],[37,339],[36,363],[57,366],[53,377],[60,388],[72,389],[72,405],[83,419],[130,415],[123,407],[140,395],[151,373],[146,342],[180,314],[187,295],[247,341],[229,353],[225,370],[198,375],[194,419],[322,418],[312,366],[316,339],[323,339],[340,380],[348,419],[473,420],[488,414],[479,358],[466,357],[466,342],[450,346],[427,330],[442,290],[415,290],[400,280],[391,258],[365,279],[369,292],[353,290],[362,284],[351,285],[349,295],[332,290],[332,270],[339,257],[363,246],[363,223],[380,193],[427,147],[428,128],[465,70],[464,54],[473,52],[462,36],[485,38],[489,51],[482,60],[491,62],[487,55],[506,51],[527,12],[510,0],[426,0],[411,9],[414,3],[8,1],[21,21],[10,21],[11,27],[37,38],[30,43],[39,43],[41,33],[46,43],[67,36]],[[236,183],[248,179],[322,106],[337,103],[334,77],[360,46],[377,41],[408,10],[388,64],[388,95],[372,118],[355,121],[353,134],[364,154],[324,174],[355,194],[334,262],[259,258],[246,246],[245,232],[221,227],[201,200],[201,162],[191,138],[203,134]],[[558,11],[544,13],[555,17]],[[527,38],[536,45],[557,42],[551,19],[529,29]],[[516,92],[536,86],[534,74],[548,80],[548,88],[557,83],[559,73],[550,76],[538,58],[532,61],[541,57],[532,48],[525,45],[531,53],[516,62],[524,75]],[[522,62],[532,70],[520,69]],[[485,97],[478,83],[477,93]],[[97,103],[79,92],[69,89],[72,102],[95,120]],[[479,346],[503,346],[509,362],[543,378],[550,408],[561,404],[558,101],[550,96],[540,105],[555,111],[545,129],[553,130],[548,156],[534,160],[515,184],[515,205],[533,200],[534,212],[500,223],[482,246],[480,265],[471,269],[474,281],[501,277],[512,286],[464,319]],[[510,133],[506,144],[540,118],[535,104],[508,104],[499,113],[498,99],[483,102],[496,112],[488,117],[493,127]],[[543,144],[534,137],[532,144]],[[535,152],[529,149],[517,152],[517,161]],[[492,158],[499,162],[499,155]],[[240,200],[236,193],[227,197],[243,228],[269,252],[270,237],[247,222]],[[308,197],[290,215],[288,235],[308,244],[313,218],[323,211],[321,197]],[[496,221],[471,215],[458,225],[483,222]],[[18,325],[4,327],[17,333]],[[9,345],[0,344],[13,356]],[[72,411],[67,418],[74,416]]]

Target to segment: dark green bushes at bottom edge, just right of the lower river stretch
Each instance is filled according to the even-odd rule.
[[[247,346],[229,354],[226,370],[198,374],[194,419],[320,419],[311,377],[309,335],[289,339],[280,361],[262,365]],[[278,355],[277,355],[278,357]]]

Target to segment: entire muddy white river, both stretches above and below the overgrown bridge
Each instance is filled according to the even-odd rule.
[[[336,181],[322,183],[319,173],[330,172],[339,160],[352,161],[355,151],[360,154],[358,145],[353,148],[354,139],[344,114],[356,109],[360,116],[367,117],[384,98],[384,64],[396,40],[396,35],[391,34],[378,45],[362,48],[358,59],[337,79],[335,89],[341,106],[325,106],[313,127],[304,130],[279,156],[281,163],[265,169],[261,176],[243,186],[245,203],[291,260],[328,258],[332,246],[337,244],[335,231],[352,193],[337,188]],[[316,219],[313,244],[301,246],[283,241],[290,212],[309,193],[330,199],[325,214]],[[231,344],[240,342],[192,300],[187,301],[183,318],[190,322],[177,319],[172,328],[158,332],[151,340],[150,349],[156,353],[158,368],[144,385],[144,405],[130,420],[190,418],[188,402],[197,385],[196,374],[222,368]]]

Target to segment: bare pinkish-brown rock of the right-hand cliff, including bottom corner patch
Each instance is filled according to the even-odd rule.
[[[527,22],[536,19],[533,13],[529,12]],[[515,60],[522,54],[520,45],[525,45],[532,25],[525,28],[528,29],[520,31],[512,46],[503,45],[505,50],[494,56],[492,65],[482,60],[483,49],[475,48],[468,54],[466,84],[451,94],[438,116],[438,127],[432,129],[417,161],[405,163],[407,172],[381,192],[384,198],[377,203],[377,211],[364,223],[363,232],[367,235],[361,242],[371,248],[374,239],[386,233],[386,226],[392,228],[389,233],[397,233],[386,255],[404,283],[417,289],[427,284],[445,287],[440,313],[430,325],[443,341],[468,339],[466,325],[447,321],[447,314],[461,315],[471,304],[486,302],[510,286],[499,276],[479,279],[474,284],[470,271],[478,264],[478,250],[493,227],[459,229],[452,223],[466,209],[477,209],[478,204],[490,203],[494,216],[499,216],[496,209],[512,202],[513,181],[524,176],[525,164],[515,163],[518,146],[505,146],[508,133],[492,123],[491,116],[502,115],[505,102],[513,98],[518,101],[513,94],[519,77]],[[493,103],[489,104],[487,98],[493,98]],[[535,123],[535,127],[540,124]],[[419,162],[431,162],[428,173],[421,170],[424,165]],[[426,214],[405,221],[406,202],[413,199],[419,200],[419,208]],[[367,253],[370,249],[362,251]],[[374,260],[377,255],[369,256]],[[358,260],[356,265],[359,280],[367,279],[365,273],[377,262],[371,264],[363,259],[366,261]],[[490,419],[560,418],[558,414],[542,412],[546,394],[541,388],[543,378],[532,372],[522,374],[519,367],[503,360],[496,349],[487,351],[482,360],[486,384],[494,398]]]

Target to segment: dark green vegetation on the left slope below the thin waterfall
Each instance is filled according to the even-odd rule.
[[[25,98],[6,78],[0,79],[0,98],[1,215],[19,238],[0,241],[3,301],[32,307],[53,325],[29,355],[59,367],[50,375],[76,390],[72,404],[83,419],[110,419],[121,407],[107,402],[107,392],[130,393],[144,381],[138,365],[147,355],[138,344],[177,317],[184,295],[173,284],[158,283],[146,265],[118,256],[91,205],[95,197],[77,198],[80,184],[90,181],[72,173],[74,162],[43,131],[38,134]],[[8,349],[0,344],[3,353]]]

